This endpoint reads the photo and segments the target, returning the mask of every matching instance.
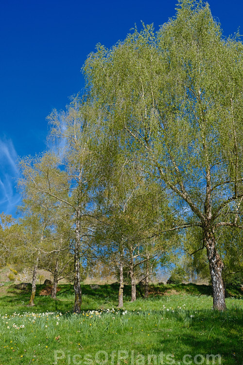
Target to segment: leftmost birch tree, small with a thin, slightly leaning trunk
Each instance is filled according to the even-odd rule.
[[[32,160],[31,160],[32,161]],[[30,159],[28,159],[30,162]],[[39,193],[35,183],[40,183],[38,170],[30,178],[30,171],[33,172],[28,164],[21,164],[23,178],[19,180],[18,186],[22,194],[22,205],[19,207],[21,212],[21,240],[22,255],[25,264],[29,264],[33,268],[32,275],[32,292],[29,306],[34,306],[36,292],[36,275],[39,267],[46,268],[48,258],[46,251],[49,250],[52,242],[53,226],[56,223],[56,212],[49,209],[50,201],[47,197]],[[35,178],[34,178],[35,176]],[[23,255],[24,253],[24,255]]]

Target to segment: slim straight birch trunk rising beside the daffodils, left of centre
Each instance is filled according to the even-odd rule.
[[[80,223],[79,220],[76,221],[76,229],[75,229],[75,248],[74,248],[74,283],[73,289],[75,293],[74,298],[74,307],[73,311],[76,313],[80,313],[81,304],[82,304],[82,292],[80,286]]]

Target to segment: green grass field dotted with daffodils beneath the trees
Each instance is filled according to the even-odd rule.
[[[56,300],[41,289],[30,308],[30,292],[0,288],[0,365],[243,365],[240,289],[229,289],[227,310],[218,312],[208,286],[154,285],[133,303],[126,286],[118,310],[117,284],[84,285],[80,315],[72,313],[71,285],[61,285]]]

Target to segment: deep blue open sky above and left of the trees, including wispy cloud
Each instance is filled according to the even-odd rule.
[[[242,0],[209,0],[224,35],[240,26]],[[173,17],[176,0],[0,1],[0,213],[15,215],[17,156],[45,150],[46,117],[82,91],[80,72],[97,43],[124,39],[140,20],[155,29]]]

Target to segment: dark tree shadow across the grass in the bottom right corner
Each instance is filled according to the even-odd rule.
[[[163,350],[164,353],[173,353],[174,364],[179,364],[178,361],[182,364],[182,358],[186,354],[191,358],[187,357],[184,364],[206,364],[207,354],[220,354],[221,362],[207,362],[207,364],[242,365],[243,311],[198,310],[194,316],[191,313],[193,312],[188,311],[187,317],[184,311],[169,314],[172,321],[176,318],[176,327],[172,329],[171,335],[168,332],[171,329],[162,328],[157,334],[157,340],[154,341],[154,352],[159,354]],[[198,358],[194,360],[197,355]]]

